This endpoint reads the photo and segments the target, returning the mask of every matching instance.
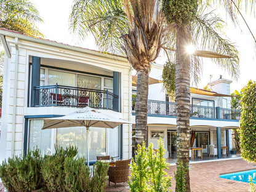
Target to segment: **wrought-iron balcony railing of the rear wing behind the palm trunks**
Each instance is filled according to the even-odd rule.
[[[135,98],[132,99],[132,113],[135,114]],[[217,111],[220,114],[219,119],[239,120],[240,111],[212,106],[190,105],[190,117],[199,119],[217,119]],[[148,116],[175,117],[176,103],[148,100]]]

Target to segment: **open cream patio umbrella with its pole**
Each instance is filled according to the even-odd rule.
[[[82,108],[74,113],[66,114],[65,116],[58,118],[44,119],[44,126],[42,129],[54,129],[64,127],[80,127],[84,126],[87,130],[87,165],[89,166],[89,128],[90,127],[102,127],[102,128],[114,128],[120,124],[129,124],[132,122],[124,119],[114,118],[107,114],[100,113],[100,111],[94,110],[89,106]]]

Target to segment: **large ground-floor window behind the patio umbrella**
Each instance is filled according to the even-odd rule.
[[[30,120],[29,148],[38,147],[42,154],[54,151],[54,145],[72,145],[78,147],[78,155],[87,157],[86,127],[67,127],[41,130],[43,120]],[[108,135],[108,137],[106,137]],[[108,143],[108,145],[106,145]],[[119,156],[119,127],[105,129],[90,127],[89,130],[90,161],[96,161],[96,156]],[[108,150],[107,150],[108,149]]]

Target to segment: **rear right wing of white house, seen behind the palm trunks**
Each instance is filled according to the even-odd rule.
[[[150,77],[161,79],[162,65],[153,65]],[[230,84],[227,79],[210,83],[212,91],[191,87],[191,131],[195,131],[193,148],[202,148],[209,154],[209,145],[219,147],[218,158],[232,148],[231,129],[239,128],[239,111],[231,110]],[[136,87],[132,87],[135,94]],[[148,90],[148,142],[157,146],[158,135],[164,139],[166,158],[176,156],[175,102],[169,102],[166,90],[161,84],[152,84]],[[133,109],[133,121],[135,111]],[[135,130],[135,126],[133,126]]]

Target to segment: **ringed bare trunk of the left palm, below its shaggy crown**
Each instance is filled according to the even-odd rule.
[[[135,114],[135,150],[137,150],[137,145],[142,145],[142,143],[146,141],[147,135],[148,70],[146,70],[146,72],[138,71]]]

